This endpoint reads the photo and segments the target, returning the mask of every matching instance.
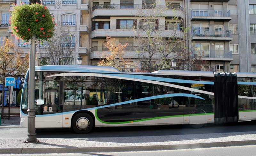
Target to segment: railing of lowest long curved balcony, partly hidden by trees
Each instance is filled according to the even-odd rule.
[[[156,48],[162,48],[162,47],[156,47]],[[106,48],[105,46],[95,46],[91,48],[91,52],[93,51],[109,51],[109,49]],[[124,51],[146,51],[146,50],[137,46],[126,46],[124,48]],[[182,48],[174,48],[172,51],[173,52],[182,51]]]

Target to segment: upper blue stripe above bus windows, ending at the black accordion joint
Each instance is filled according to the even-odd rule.
[[[174,78],[161,78],[161,77],[153,77],[153,76],[145,76],[145,75],[127,75],[127,74],[103,74],[109,76],[118,76],[124,78],[137,78],[143,80],[152,80],[152,81],[164,81],[164,82],[176,82],[176,83],[188,83],[188,84],[205,84],[205,85],[213,85],[213,81],[194,81],[194,80],[183,80],[183,79],[174,79]]]

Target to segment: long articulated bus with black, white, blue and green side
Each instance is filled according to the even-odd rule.
[[[21,127],[27,127],[27,72]],[[161,70],[120,72],[102,66],[37,66],[36,129],[190,124],[256,120],[256,74]]]

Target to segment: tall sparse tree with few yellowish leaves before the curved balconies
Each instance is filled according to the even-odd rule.
[[[134,40],[138,46],[138,58],[142,65],[148,67],[146,71],[171,69],[171,60],[176,59],[182,70],[192,70],[200,56],[188,51],[186,41],[189,27],[184,26],[184,19],[180,19],[176,4],[157,5],[157,3],[142,4],[138,9],[137,21],[134,20]],[[172,10],[175,17],[166,17],[165,12]],[[200,64],[200,63],[199,63]],[[145,69],[143,70],[145,71]]]

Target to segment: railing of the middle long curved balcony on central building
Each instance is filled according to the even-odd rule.
[[[148,28],[147,28],[148,27]],[[97,29],[155,29],[155,30],[179,30],[182,31],[181,26],[136,26],[136,25],[94,25],[92,26],[91,30],[97,30]]]

